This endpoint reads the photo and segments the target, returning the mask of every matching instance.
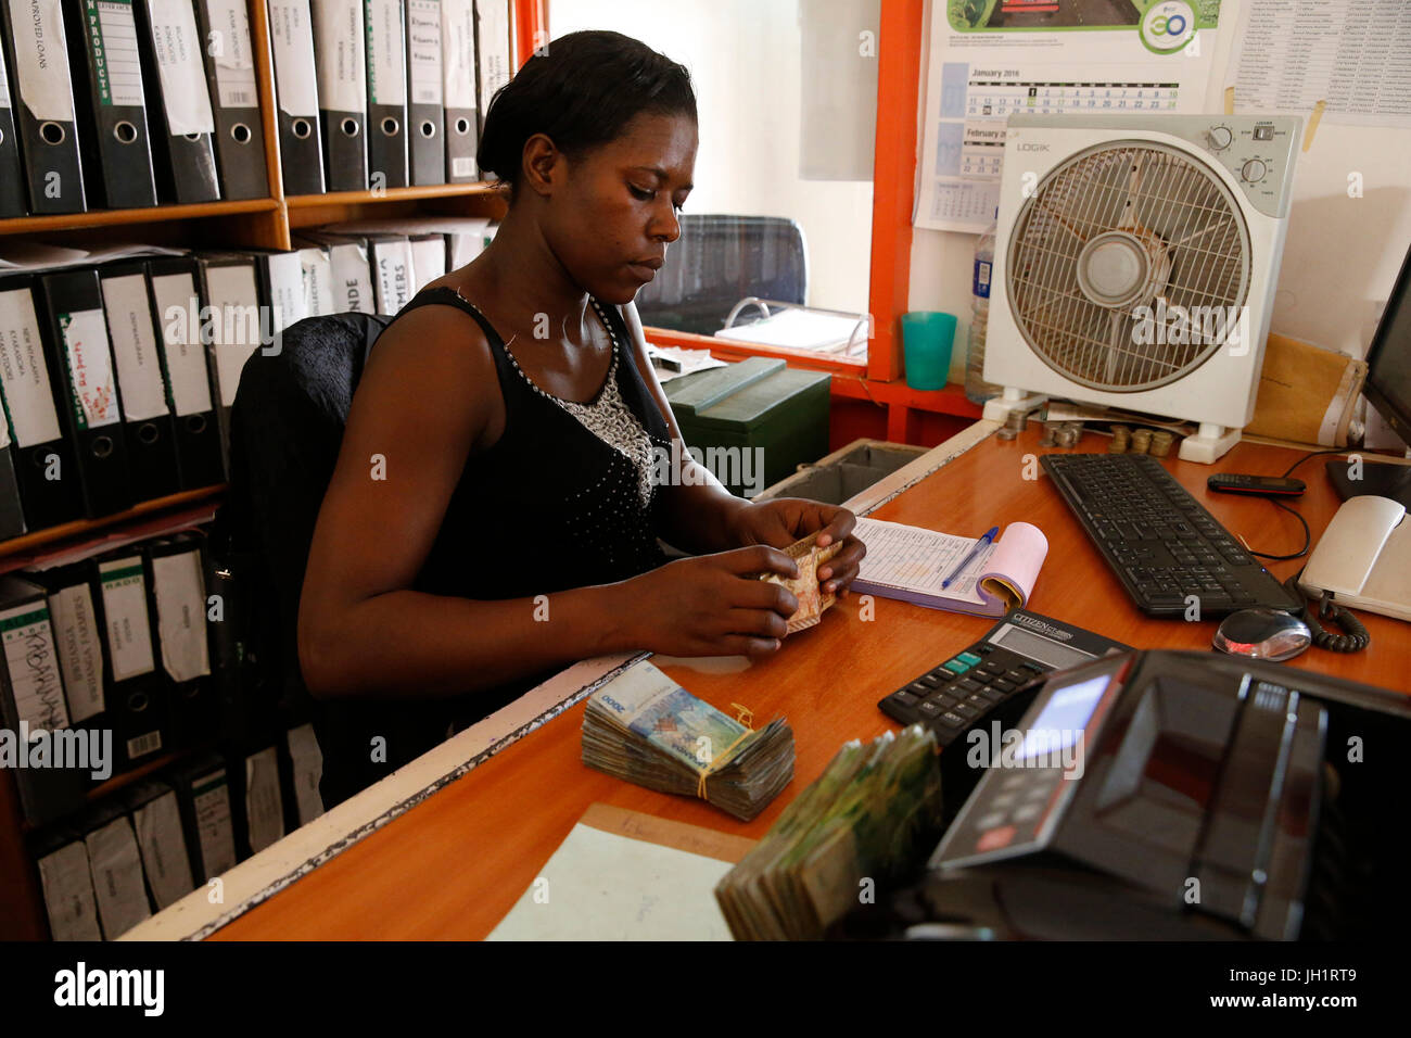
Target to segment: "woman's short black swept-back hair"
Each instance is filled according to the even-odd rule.
[[[643,112],[696,119],[686,66],[621,32],[570,32],[495,90],[476,161],[508,184],[512,196],[533,134],[579,155],[615,140]]]

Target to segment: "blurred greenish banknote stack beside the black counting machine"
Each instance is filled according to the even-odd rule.
[[[715,887],[737,941],[817,941],[914,870],[941,825],[935,737],[919,724],[845,744]]]

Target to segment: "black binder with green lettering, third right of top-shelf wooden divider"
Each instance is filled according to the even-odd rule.
[[[368,185],[405,188],[406,8],[402,0],[367,0],[365,14]]]

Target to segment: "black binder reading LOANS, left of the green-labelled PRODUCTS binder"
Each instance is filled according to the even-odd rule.
[[[0,0],[30,212],[37,216],[87,210],[59,7],[59,0]]]

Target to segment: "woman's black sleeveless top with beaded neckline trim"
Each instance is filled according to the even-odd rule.
[[[665,562],[656,541],[660,489],[652,483],[643,500],[641,466],[533,386],[485,316],[456,290],[425,290],[398,316],[432,304],[464,311],[484,330],[504,397],[505,426],[491,448],[467,458],[412,587],[464,599],[532,597],[625,580]],[[670,429],[632,359],[626,322],[617,306],[597,301],[593,306],[615,339],[608,378],[615,380],[652,448],[669,451]],[[604,384],[594,401],[610,388]],[[545,624],[545,638],[550,637],[550,624]],[[391,774],[556,669],[452,699],[326,700],[316,722],[325,806]],[[378,736],[385,739],[385,761],[373,760]]]

